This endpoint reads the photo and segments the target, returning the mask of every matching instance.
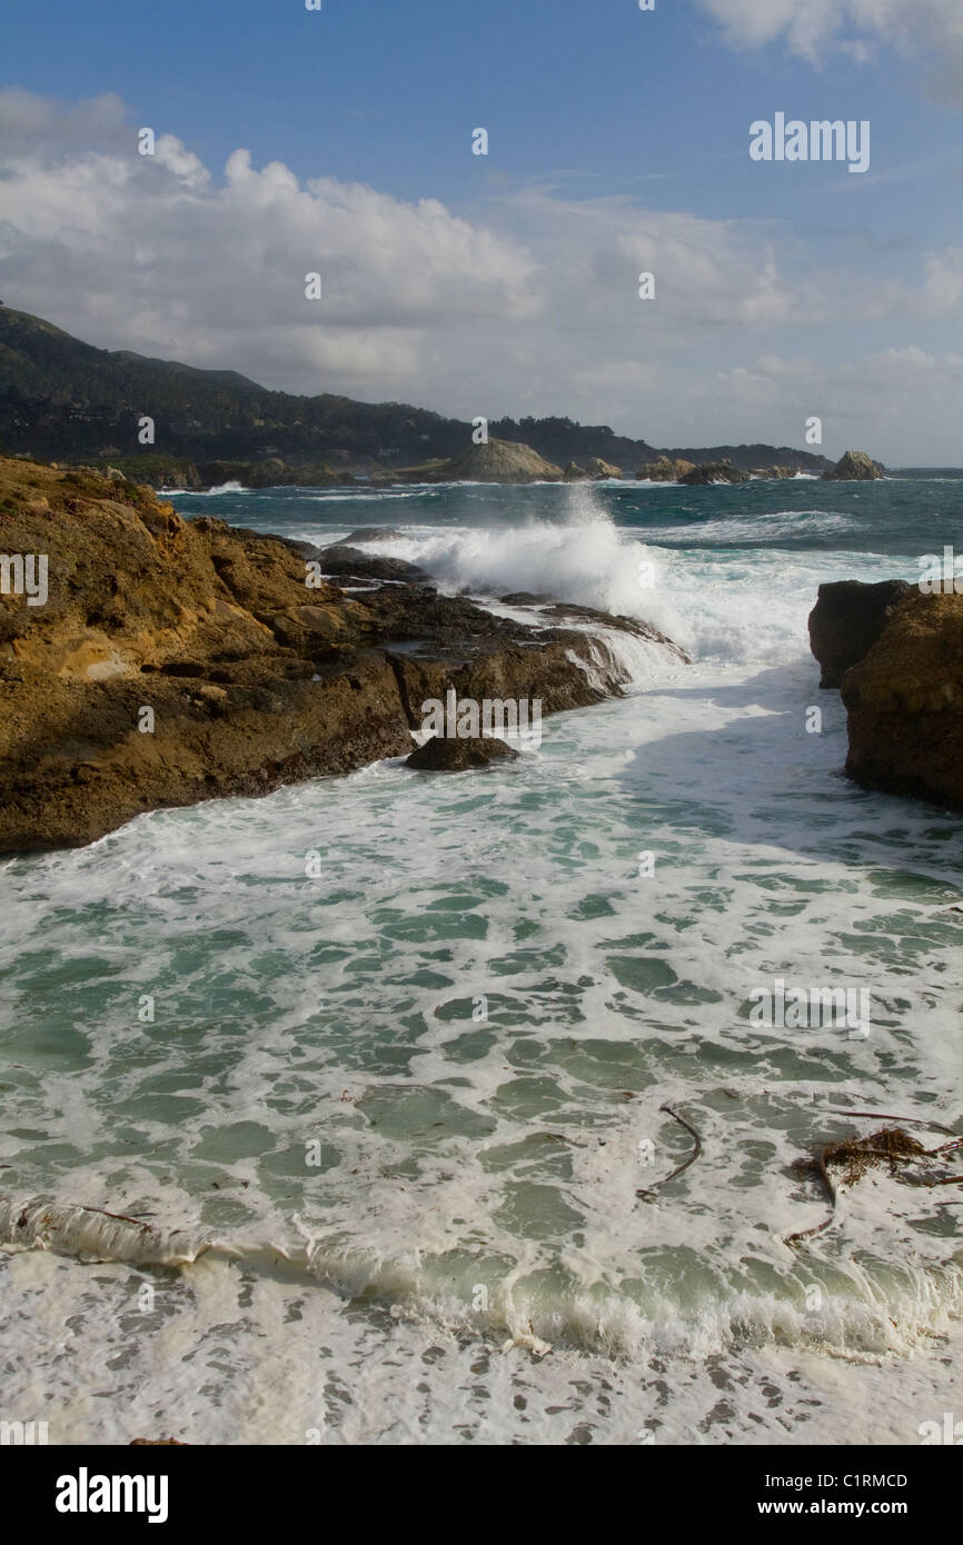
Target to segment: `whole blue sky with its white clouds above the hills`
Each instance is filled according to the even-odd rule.
[[[90,343],[963,464],[963,0],[11,0],[0,43],[0,297]],[[754,161],[778,113],[869,170]]]

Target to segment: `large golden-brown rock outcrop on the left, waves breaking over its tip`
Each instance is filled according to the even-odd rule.
[[[0,851],[407,756],[448,689],[552,714],[626,681],[618,620],[529,627],[363,567],[342,589],[323,552],[312,569],[298,544],[99,474],[0,460]],[[42,604],[25,555],[46,559]]]

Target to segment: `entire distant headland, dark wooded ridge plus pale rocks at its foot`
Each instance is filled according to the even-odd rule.
[[[821,476],[833,465],[785,445],[658,448],[564,417],[492,419],[484,431],[478,425],[408,403],[331,392],[298,397],[235,371],[97,349],[0,304],[0,453],[116,467],[153,487],[609,476],[713,482],[740,480],[727,471],[714,476],[727,467],[791,477]]]

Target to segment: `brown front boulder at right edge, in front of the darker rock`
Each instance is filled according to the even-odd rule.
[[[963,810],[963,596],[912,592],[842,681],[846,771]]]

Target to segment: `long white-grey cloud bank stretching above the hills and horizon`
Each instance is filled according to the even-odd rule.
[[[827,363],[839,331],[864,328],[878,348],[881,318],[931,328],[963,312],[960,249],[926,255],[915,283],[867,283],[778,226],[628,198],[501,192],[468,218],[437,199],[301,182],[243,148],[215,171],[172,134],[141,156],[114,97],[0,93],[0,185],[8,304],[102,348],[462,419],[567,413],[654,443],[801,443],[805,417],[832,402],[844,439],[884,454],[873,403],[900,360],[839,372]],[[320,301],[305,297],[311,272]],[[654,301],[638,294],[645,272]],[[955,366],[903,368],[924,382],[918,423],[943,423]],[[856,397],[863,434],[850,433]],[[926,459],[921,443],[914,454]]]

